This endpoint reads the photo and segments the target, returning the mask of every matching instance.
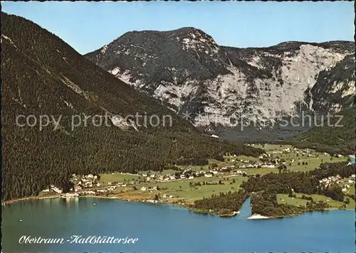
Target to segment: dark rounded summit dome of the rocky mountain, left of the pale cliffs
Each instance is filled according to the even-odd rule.
[[[149,85],[144,84],[147,81],[177,85],[189,76],[205,80],[226,74],[229,64],[211,36],[191,27],[128,32],[87,57],[113,75],[118,74],[121,80],[135,82],[135,87],[145,86],[148,90]]]

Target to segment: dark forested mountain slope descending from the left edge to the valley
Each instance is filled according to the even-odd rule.
[[[173,163],[204,164],[206,158],[219,158],[227,151],[248,156],[262,152],[202,136],[188,121],[91,63],[57,36],[4,13],[1,81],[4,200],[36,195],[49,184],[66,190],[70,173],[162,170]],[[136,113],[160,119],[169,115],[172,126],[146,127],[124,119]],[[17,116],[30,114],[36,119],[61,117],[60,124],[57,129],[53,120],[43,129],[16,124]],[[83,117],[95,114],[108,114],[108,126],[94,126],[91,119],[84,126]],[[82,118],[72,129],[73,115]],[[19,123],[25,124],[24,119]]]

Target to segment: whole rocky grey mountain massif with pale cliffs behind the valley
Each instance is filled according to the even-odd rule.
[[[349,106],[354,53],[348,41],[231,48],[197,28],[180,28],[128,32],[85,56],[178,114],[190,112],[195,126],[216,130],[241,119],[261,128],[263,119],[273,122],[300,109]]]

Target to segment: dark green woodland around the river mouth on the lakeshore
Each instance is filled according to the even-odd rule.
[[[288,194],[295,198],[294,193],[320,194],[333,200],[344,201],[345,195],[339,185],[330,184],[328,187],[320,185],[322,178],[340,175],[342,178],[350,177],[355,173],[355,164],[347,166],[346,162],[322,163],[320,168],[306,172],[268,173],[264,176],[249,176],[248,181],[241,184],[243,190],[233,193],[220,193],[195,201],[192,208],[219,213],[221,210],[229,212],[239,210],[246,198],[251,197],[251,210],[253,213],[270,217],[283,217],[298,215],[311,210],[325,210],[330,208],[323,201],[315,202],[313,198],[302,195],[308,200],[305,206],[295,206],[278,203],[277,194]],[[355,195],[350,195],[355,199]],[[348,199],[347,199],[348,200]]]

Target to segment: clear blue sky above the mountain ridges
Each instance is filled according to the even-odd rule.
[[[38,23],[79,53],[127,31],[199,28],[219,45],[241,48],[283,41],[353,41],[354,7],[320,2],[1,2],[2,11]]]

